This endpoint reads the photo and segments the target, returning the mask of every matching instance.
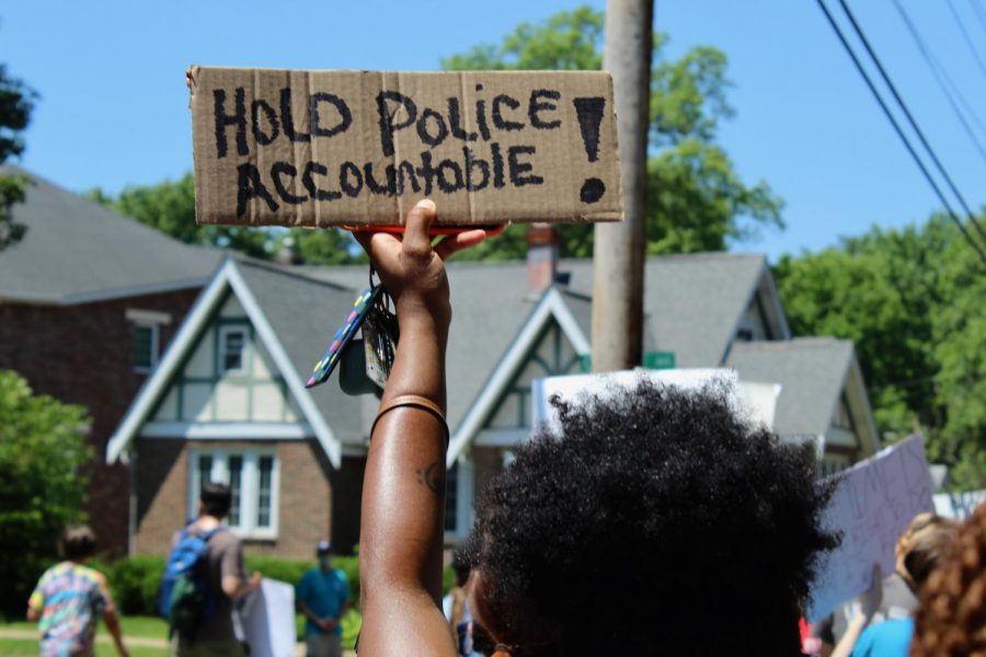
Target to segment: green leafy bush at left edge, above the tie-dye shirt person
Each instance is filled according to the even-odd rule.
[[[61,530],[82,519],[89,418],[0,370],[0,609],[23,613]]]

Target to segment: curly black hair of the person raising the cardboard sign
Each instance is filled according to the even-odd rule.
[[[517,655],[799,655],[832,485],[722,383],[552,399],[480,495],[465,558]],[[542,641],[543,639],[543,641]]]

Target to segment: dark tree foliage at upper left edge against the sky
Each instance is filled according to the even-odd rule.
[[[37,94],[0,65],[0,164],[24,152],[24,128]],[[23,175],[0,175],[0,251],[19,241],[27,227],[11,216],[14,204],[23,203],[28,181]]]

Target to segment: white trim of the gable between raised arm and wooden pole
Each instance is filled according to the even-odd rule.
[[[524,364],[524,356],[534,347],[538,334],[552,318],[558,322],[569,342],[572,343],[576,354],[585,355],[592,351],[589,341],[578,326],[578,322],[572,314],[567,303],[565,303],[564,297],[557,288],[549,288],[531,311],[530,316],[527,318],[524,326],[520,327],[517,337],[514,338],[506,354],[501,358],[500,364],[493,370],[493,374],[483,387],[479,397],[469,407],[465,418],[451,437],[448,454],[445,457],[448,468],[451,468],[462,450],[479,434],[483,420],[503,396],[517,369]]]

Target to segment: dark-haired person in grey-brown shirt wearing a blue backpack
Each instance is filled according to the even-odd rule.
[[[260,587],[261,575],[246,577],[240,539],[222,525],[231,504],[229,486],[203,484],[198,518],[175,535],[159,601],[171,623],[173,656],[245,655],[234,603]]]

